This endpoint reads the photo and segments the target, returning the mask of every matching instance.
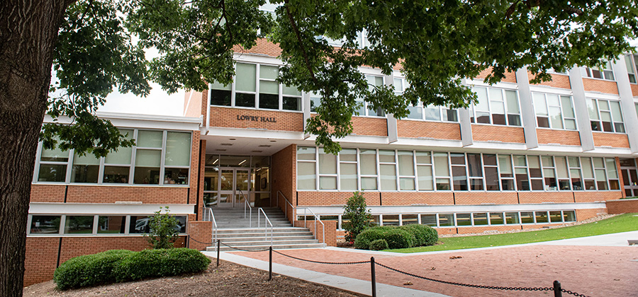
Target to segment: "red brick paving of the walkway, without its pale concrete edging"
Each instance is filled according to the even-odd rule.
[[[325,262],[365,261],[371,257],[371,254],[365,252],[325,249],[280,252]],[[268,252],[233,253],[268,261]],[[450,259],[453,256],[461,258]],[[527,245],[427,255],[375,255],[374,259],[405,272],[466,284],[549,287],[554,280],[559,280],[564,289],[587,296],[638,296],[636,247]],[[314,264],[293,260],[277,253],[273,253],[273,261],[315,272],[370,280],[370,264]],[[376,267],[376,281],[449,296],[554,296],[552,291],[497,291],[439,284],[391,272],[379,266]],[[413,285],[404,285],[406,281],[412,282]]]

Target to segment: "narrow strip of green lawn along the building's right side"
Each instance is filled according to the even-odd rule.
[[[386,251],[431,252],[435,250],[462,250],[466,248],[485,248],[499,245],[538,243],[541,241],[577,238],[627,231],[638,231],[638,214],[622,214],[620,216],[614,216],[611,219],[605,219],[593,223],[542,231],[440,238],[439,245]]]

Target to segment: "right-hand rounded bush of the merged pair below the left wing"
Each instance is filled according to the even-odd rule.
[[[116,281],[135,281],[145,277],[201,272],[208,264],[211,264],[210,259],[188,248],[142,250],[119,262],[113,272]]]

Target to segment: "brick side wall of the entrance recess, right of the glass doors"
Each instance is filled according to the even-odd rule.
[[[297,146],[291,144],[286,148],[274,153],[271,157],[272,168],[272,194],[271,197],[276,199],[277,191],[281,191],[282,194],[291,202],[296,205],[296,185],[297,185]],[[279,202],[274,201],[274,205],[279,205],[282,211],[286,211],[286,201],[283,197],[279,197]],[[287,208],[289,219],[293,217],[292,210]]]

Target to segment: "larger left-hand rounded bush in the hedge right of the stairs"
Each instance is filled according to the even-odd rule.
[[[368,250],[374,240],[384,239],[388,248],[411,248],[415,237],[408,231],[393,226],[373,227],[364,230],[354,240],[354,248]]]

